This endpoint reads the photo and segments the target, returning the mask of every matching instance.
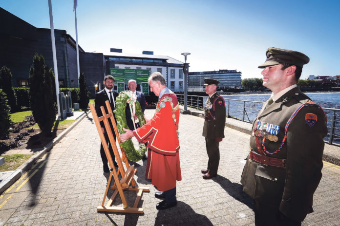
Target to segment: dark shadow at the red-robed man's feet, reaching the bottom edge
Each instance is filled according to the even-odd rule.
[[[158,211],[155,220],[155,226],[177,225],[213,226],[206,216],[196,213],[188,204],[181,201],[177,201],[176,207]]]

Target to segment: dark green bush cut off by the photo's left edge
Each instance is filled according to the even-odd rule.
[[[10,110],[11,108],[7,105],[6,94],[0,89],[0,139],[8,137],[9,128],[12,125]]]

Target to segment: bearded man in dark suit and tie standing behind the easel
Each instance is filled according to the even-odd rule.
[[[94,97],[94,107],[96,109],[96,113],[97,113],[98,117],[103,115],[102,110],[100,109],[101,106],[104,106],[106,114],[108,113],[107,108],[106,108],[106,104],[105,104],[106,100],[110,101],[110,106],[111,106],[112,111],[116,109],[115,101],[116,101],[116,97],[118,96],[118,93],[113,91],[113,89],[112,89],[113,86],[114,86],[114,77],[111,76],[111,75],[106,75],[105,78],[104,78],[104,85],[105,85],[105,89],[96,93],[96,95]],[[114,117],[114,120],[116,120],[116,117]],[[111,123],[110,120],[108,120],[108,122],[110,124],[113,137],[116,140],[116,134],[114,133],[112,123]],[[102,132],[104,133],[105,139],[108,143],[108,150],[110,151],[114,166],[118,167],[116,161],[114,160],[114,153],[113,153],[110,141],[108,139],[108,135],[107,135],[107,132],[106,132],[106,129],[105,129],[105,126],[104,126],[104,122],[101,121],[100,125],[102,127]],[[109,169],[107,167],[107,157],[106,157],[102,143],[100,144],[100,156],[102,157],[104,172],[109,172]]]

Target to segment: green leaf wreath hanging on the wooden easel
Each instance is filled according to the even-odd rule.
[[[120,92],[119,95],[116,98],[116,110],[113,112],[115,113],[115,117],[117,119],[117,128],[120,134],[125,133],[123,128],[128,129],[127,127],[127,119],[125,116],[125,108],[127,106],[127,100],[130,98],[130,92],[129,91],[123,91]],[[141,105],[138,101],[135,103],[136,106],[136,114],[138,116],[139,120],[139,126],[142,127],[144,124],[146,124]],[[127,158],[130,161],[137,162],[142,159],[142,157],[145,155],[146,147],[144,144],[139,144],[139,149],[135,150],[132,140],[128,139],[127,141],[122,143],[122,147],[125,150],[125,153],[127,154]]]

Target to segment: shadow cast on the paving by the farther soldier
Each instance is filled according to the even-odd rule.
[[[221,188],[227,191],[227,193],[234,199],[253,209],[253,200],[246,193],[243,192],[243,186],[241,184],[232,183],[230,180],[221,175],[212,178],[212,180],[219,184]]]

